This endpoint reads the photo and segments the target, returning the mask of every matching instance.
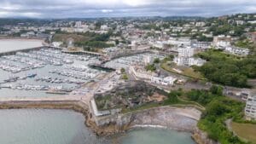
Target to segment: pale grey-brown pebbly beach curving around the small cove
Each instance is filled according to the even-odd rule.
[[[184,130],[192,132],[196,128],[197,120],[201,112],[193,115],[195,109],[156,107],[153,109],[137,112],[131,121],[132,125],[160,125],[167,129]],[[190,117],[189,117],[189,116]],[[194,118],[196,117],[196,118]]]

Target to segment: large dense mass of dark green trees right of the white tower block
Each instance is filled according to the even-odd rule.
[[[256,78],[256,59],[254,56],[238,59],[221,51],[201,53],[202,59],[208,60],[196,70],[212,82],[235,87],[249,87],[247,78]]]

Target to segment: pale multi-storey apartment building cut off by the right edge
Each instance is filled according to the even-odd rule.
[[[247,119],[256,120],[256,93],[251,93],[247,97],[247,105],[245,107],[245,114]]]

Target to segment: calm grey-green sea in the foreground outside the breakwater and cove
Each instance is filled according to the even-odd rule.
[[[0,144],[195,144],[189,133],[140,129],[99,138],[69,110],[0,110]]]

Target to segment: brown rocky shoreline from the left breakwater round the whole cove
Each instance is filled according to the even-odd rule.
[[[154,107],[137,112],[128,112],[103,118],[102,125],[96,124],[87,104],[82,101],[6,101],[0,102],[0,109],[41,108],[71,109],[84,114],[86,126],[98,136],[107,136],[125,132],[135,127],[161,127],[192,134],[198,144],[218,144],[207,137],[196,126],[201,112],[193,107]],[[107,120],[106,120],[107,119]],[[101,119],[102,120],[102,119]]]

